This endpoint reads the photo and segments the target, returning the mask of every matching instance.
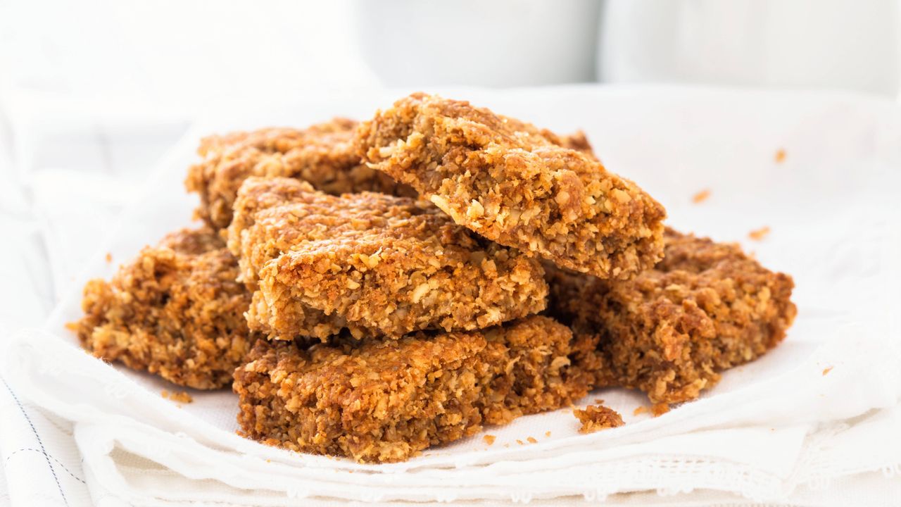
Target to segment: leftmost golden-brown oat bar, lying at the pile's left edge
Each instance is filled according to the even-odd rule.
[[[250,292],[238,263],[210,228],[167,235],[111,281],[85,286],[85,317],[70,323],[93,355],[172,383],[215,389],[250,349]]]

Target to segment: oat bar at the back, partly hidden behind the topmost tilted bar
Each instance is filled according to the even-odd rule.
[[[265,128],[206,137],[197,152],[203,161],[188,170],[185,185],[200,195],[197,217],[215,228],[232,221],[232,203],[250,176],[305,180],[339,195],[371,190],[415,196],[378,171],[360,164],[350,139],[357,122],[335,118],[304,129]]]

